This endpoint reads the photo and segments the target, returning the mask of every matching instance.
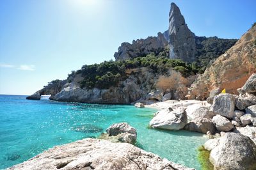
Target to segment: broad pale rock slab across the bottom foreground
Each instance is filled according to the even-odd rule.
[[[132,144],[83,139],[55,146],[10,169],[189,169]]]

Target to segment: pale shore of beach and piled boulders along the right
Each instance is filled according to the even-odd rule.
[[[256,73],[237,91],[215,93],[212,102],[168,100],[144,106],[159,109],[149,123],[152,128],[206,134],[204,148],[214,169],[255,169]]]

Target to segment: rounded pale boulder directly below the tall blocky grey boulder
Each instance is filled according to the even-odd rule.
[[[217,130],[228,132],[234,128],[234,125],[225,117],[217,114],[212,118],[212,123],[216,126]]]

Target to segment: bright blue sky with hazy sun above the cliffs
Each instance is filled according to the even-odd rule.
[[[0,94],[30,95],[114,59],[122,42],[166,31],[172,2],[198,36],[240,38],[256,22],[255,0],[1,0]]]

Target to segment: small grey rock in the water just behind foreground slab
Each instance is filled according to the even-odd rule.
[[[134,127],[131,127],[128,123],[115,123],[107,128],[108,136],[106,139],[116,139],[123,143],[136,143],[137,132]],[[104,135],[102,136],[104,137]]]

